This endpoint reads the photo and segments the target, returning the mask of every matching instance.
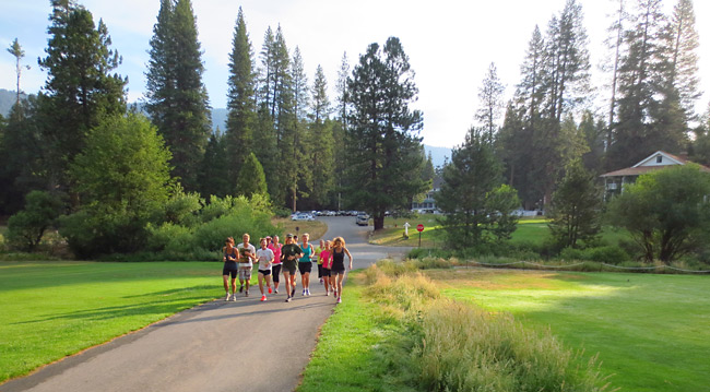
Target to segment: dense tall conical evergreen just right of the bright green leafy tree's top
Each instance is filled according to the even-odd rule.
[[[204,66],[190,0],[163,0],[151,38],[147,111],[173,153],[173,175],[187,191],[198,174],[211,132]]]

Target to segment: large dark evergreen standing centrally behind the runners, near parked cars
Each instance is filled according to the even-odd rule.
[[[383,227],[384,212],[405,205],[426,190],[418,176],[422,159],[409,154],[421,144],[422,114],[411,110],[416,99],[414,71],[399,38],[390,37],[382,50],[370,44],[348,81],[352,112],[346,132],[353,185],[348,191],[355,207]]]

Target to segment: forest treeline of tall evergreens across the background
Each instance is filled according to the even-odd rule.
[[[90,151],[111,145],[110,135],[121,134],[114,129],[125,128],[137,130],[137,144],[126,149],[155,144],[144,149],[155,159],[145,165],[157,171],[113,189],[110,198],[123,206],[146,205],[132,195],[158,181],[167,192],[158,201],[180,192],[206,203],[212,195],[259,194],[276,209],[364,210],[380,228],[386,211],[409,210],[431,187],[437,174],[422,146],[424,116],[411,108],[418,90],[397,37],[369,45],[354,64],[344,54],[332,81],[336,94],[329,97],[321,66],[310,76],[281,26],[269,27],[260,46],[252,43],[239,9],[225,80],[226,127],[212,131],[190,0],[161,1],[145,71],[149,122],[128,115],[134,110],[126,102],[127,79],[115,72],[121,58],[108,27],[73,0],[50,4],[46,57],[38,60],[46,84],[36,96],[17,95],[1,123],[1,214],[20,211],[33,190],[58,195],[64,214],[99,204],[98,189],[110,185],[87,174],[102,167],[107,176],[131,177],[131,165],[145,157]],[[493,63],[480,87],[476,123],[466,140],[492,149],[496,164],[488,166],[499,171],[490,183],[507,183],[505,192],[517,192],[526,209],[549,204],[579,157],[594,174],[658,150],[710,162],[708,115],[695,111],[699,44],[691,0],[678,0],[671,14],[662,12],[661,0],[614,4],[604,90],[591,86],[590,43],[577,0],[532,32],[512,99],[504,102]],[[24,51],[16,39],[8,51],[16,58],[20,92]]]

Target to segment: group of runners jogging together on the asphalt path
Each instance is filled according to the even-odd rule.
[[[343,278],[345,277],[345,256],[350,259],[348,269],[353,269],[353,256],[345,248],[343,237],[332,241],[320,240],[313,247],[308,240],[309,235],[304,234],[298,243],[298,238],[292,234],[286,235],[285,243],[279,242],[279,236],[267,236],[259,239],[259,249],[251,245],[250,236],[241,236],[241,243],[235,246],[234,238],[228,237],[222,249],[224,266],[222,278],[226,293],[224,300],[236,300],[237,277],[239,278],[239,293],[249,296],[249,286],[253,265],[257,264],[259,290],[261,300],[267,300],[267,294],[279,294],[280,275],[283,273],[286,285],[286,302],[291,302],[296,294],[296,270],[300,273],[303,286],[301,296],[310,296],[310,273],[313,260],[318,263],[318,277],[326,286],[326,295],[333,294],[340,304],[343,295]],[[232,278],[232,284],[229,284]],[[229,293],[232,288],[232,293]]]

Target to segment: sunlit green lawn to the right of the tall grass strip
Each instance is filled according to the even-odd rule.
[[[429,271],[442,293],[549,328],[622,391],[710,391],[710,277]]]

